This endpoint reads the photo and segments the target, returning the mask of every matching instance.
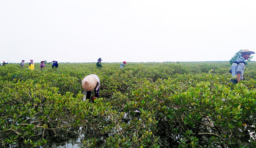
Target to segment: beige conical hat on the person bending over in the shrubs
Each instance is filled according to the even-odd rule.
[[[97,80],[94,76],[88,75],[82,80],[82,87],[86,91],[92,91],[97,85]]]

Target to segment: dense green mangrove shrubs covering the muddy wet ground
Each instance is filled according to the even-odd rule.
[[[1,147],[49,146],[79,127],[101,137],[82,147],[256,146],[255,62],[237,85],[228,62],[18,65],[0,67]],[[88,74],[100,78],[95,103],[82,101]]]

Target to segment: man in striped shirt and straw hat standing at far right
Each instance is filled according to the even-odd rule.
[[[249,49],[244,49],[239,53],[241,54],[241,57],[233,62],[229,70],[229,73],[233,76],[233,78],[230,79],[230,82],[233,84],[237,84],[244,80],[245,60],[248,60],[251,54],[255,54],[255,52]]]

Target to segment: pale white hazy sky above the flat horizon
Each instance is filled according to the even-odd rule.
[[[228,61],[256,52],[255,8],[255,0],[0,0],[0,62]]]

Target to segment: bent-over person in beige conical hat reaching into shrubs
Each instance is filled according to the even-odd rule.
[[[94,103],[94,99],[99,98],[99,90],[100,90],[100,78],[97,75],[88,75],[86,77],[84,77],[84,79],[82,80],[82,87],[84,88],[84,92],[83,92],[83,101],[85,101],[86,99],[91,99],[91,93],[92,90],[94,90],[94,97],[92,97],[92,102]]]

